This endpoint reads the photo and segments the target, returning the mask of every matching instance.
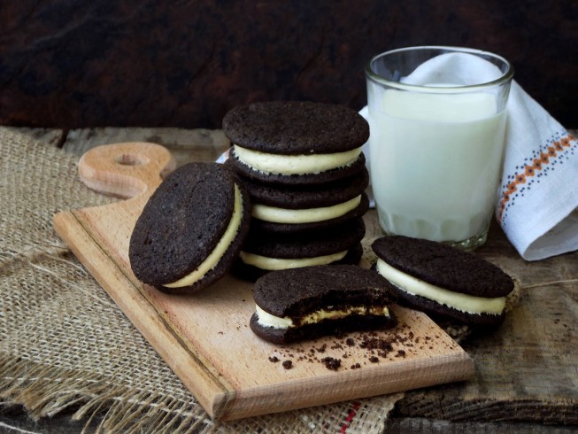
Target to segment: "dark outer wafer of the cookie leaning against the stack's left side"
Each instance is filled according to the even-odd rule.
[[[235,174],[216,163],[189,163],[169,174],[136,221],[128,251],[135,276],[156,286],[195,270],[227,229],[235,208],[235,183]],[[248,198],[243,198],[243,208],[248,214]],[[246,215],[243,225],[248,229]],[[236,244],[240,249],[241,243]]]

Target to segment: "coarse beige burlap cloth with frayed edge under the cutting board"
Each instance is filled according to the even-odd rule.
[[[0,128],[0,397],[66,409],[104,432],[380,432],[401,394],[212,422],[52,229],[58,211],[113,199],[77,159]],[[88,426],[88,425],[87,425]]]

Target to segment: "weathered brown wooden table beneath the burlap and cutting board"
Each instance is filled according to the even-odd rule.
[[[229,145],[220,130],[30,129],[28,133],[79,156],[104,143],[160,143],[173,152],[178,165],[212,161]],[[476,254],[520,279],[520,302],[497,331],[470,336],[462,344],[474,360],[471,380],[407,392],[397,403],[387,432],[575,432],[578,252],[527,262],[494,224],[488,243]],[[0,431],[61,432],[81,427],[66,415],[34,422],[19,409],[0,410]]]

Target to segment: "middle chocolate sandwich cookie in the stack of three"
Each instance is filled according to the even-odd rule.
[[[323,229],[361,217],[369,207],[367,170],[338,182],[312,186],[243,180],[251,201],[251,226],[269,232]]]

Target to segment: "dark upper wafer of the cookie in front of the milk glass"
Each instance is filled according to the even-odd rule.
[[[447,244],[383,236],[374,241],[372,249],[391,267],[449,291],[486,298],[504,297],[513,291],[512,278],[501,268]]]

